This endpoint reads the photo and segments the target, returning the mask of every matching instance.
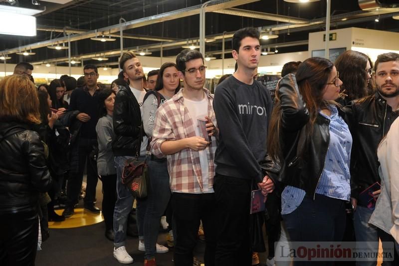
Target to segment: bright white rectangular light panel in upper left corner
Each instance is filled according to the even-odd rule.
[[[0,34],[36,36],[36,17],[4,11],[2,6],[5,5],[0,5]]]

